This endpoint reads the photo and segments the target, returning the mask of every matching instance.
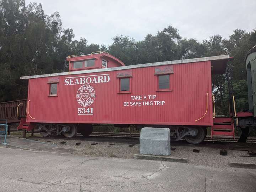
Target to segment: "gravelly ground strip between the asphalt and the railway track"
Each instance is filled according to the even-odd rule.
[[[21,133],[12,133],[13,136],[22,137]],[[30,134],[27,134],[29,136]],[[34,134],[39,136],[39,134]],[[92,157],[112,157],[130,159],[134,154],[139,154],[139,144],[132,143],[116,143],[116,142],[96,142],[96,141],[81,141],[68,139],[51,139],[30,137],[28,139],[38,140],[41,142],[57,144],[60,148],[73,148],[76,156],[92,156]],[[65,142],[61,144],[60,142]],[[80,143],[77,145],[77,143]],[[244,162],[256,164],[256,157],[241,157],[240,155],[248,155],[248,151],[227,150],[227,155],[220,155],[220,149],[201,146],[178,146],[175,143],[171,144],[172,157],[187,158],[190,164],[204,165],[210,167],[224,168],[230,162]],[[193,149],[199,149],[199,153],[194,153]]]

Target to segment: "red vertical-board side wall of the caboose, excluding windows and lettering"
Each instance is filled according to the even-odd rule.
[[[27,114],[27,122],[212,126],[210,64],[210,61],[173,64],[174,73],[170,74],[172,91],[158,91],[157,66],[127,69],[132,73],[130,93],[118,93],[117,73],[120,70],[57,76],[57,96],[49,96],[51,77],[29,79],[28,111],[35,119]],[[89,84],[95,91],[94,102],[87,107],[79,105],[76,93],[82,85],[65,85],[65,79],[100,75],[109,76],[110,80]],[[207,114],[196,122],[206,111],[207,93]],[[153,95],[156,96],[154,99]],[[137,99],[132,100],[131,96],[137,96]],[[152,101],[153,105],[144,105],[147,101]],[[164,101],[164,104],[157,105],[157,101],[160,104]],[[124,106],[127,102],[129,106]],[[79,108],[93,108],[93,114],[78,115]]]

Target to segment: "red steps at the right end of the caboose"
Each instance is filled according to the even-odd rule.
[[[235,139],[234,123],[231,117],[213,118],[211,137],[231,137]]]

